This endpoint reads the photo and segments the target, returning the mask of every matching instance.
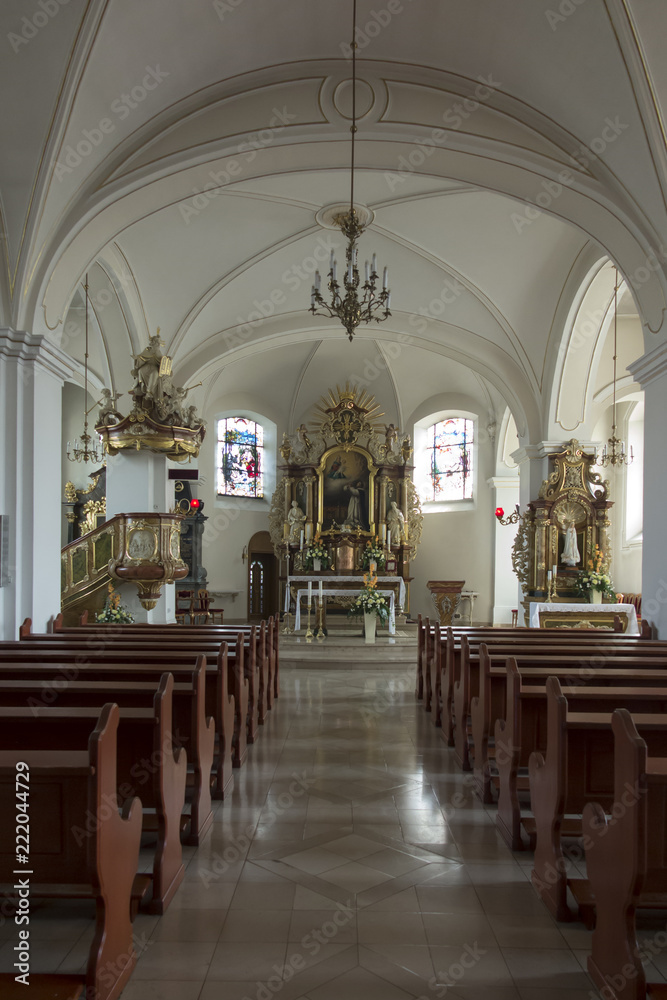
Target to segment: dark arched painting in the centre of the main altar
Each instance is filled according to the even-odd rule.
[[[324,530],[347,525],[370,529],[371,473],[368,459],[358,451],[335,448],[320,472],[320,523]]]

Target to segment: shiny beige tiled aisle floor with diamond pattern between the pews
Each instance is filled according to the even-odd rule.
[[[233,795],[186,855],[169,911],[136,921],[123,1000],[597,996],[590,935],[536,898],[531,857],[497,837],[412,671],[283,671]],[[78,969],[85,926],[35,922],[34,971]],[[9,922],[0,934],[4,970]]]

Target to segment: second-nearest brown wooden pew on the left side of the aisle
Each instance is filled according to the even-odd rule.
[[[187,758],[185,750],[174,746],[172,691],[174,679],[164,674],[153,696],[151,708],[119,708],[116,779],[121,799],[140,795],[146,810],[155,810],[157,846],[152,875],[149,913],[164,913],[183,881],[185,866],[180,828]],[[113,694],[113,693],[112,693]],[[19,693],[19,698],[21,697]],[[58,708],[13,705],[0,708],[0,747],[17,750],[75,750],[86,739],[99,717],[101,707]],[[144,829],[150,829],[144,823]],[[81,835],[88,833],[84,827]]]

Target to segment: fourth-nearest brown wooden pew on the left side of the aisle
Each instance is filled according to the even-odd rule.
[[[125,627],[122,626],[123,629]],[[51,636],[24,637],[19,642],[0,644],[0,665],[30,665],[34,674],[38,666],[63,664],[63,670],[66,669],[67,675],[74,678],[78,678],[84,668],[113,666],[118,668],[121,676],[129,672],[136,680],[150,680],[156,671],[159,676],[164,670],[169,670],[174,673],[176,681],[188,681],[197,653],[204,655],[207,661],[206,711],[215,719],[220,747],[213,794],[216,798],[224,798],[231,788],[230,758],[233,755],[234,765],[240,766],[245,759],[247,742],[253,742],[257,735],[256,697],[253,709],[248,707],[250,685],[252,682],[254,695],[256,677],[251,670],[250,681],[244,681],[245,648],[241,638],[236,644],[225,641],[202,649],[197,644],[185,643],[174,647],[170,643],[150,639],[133,642],[119,638],[118,632],[110,638],[105,634],[75,639],[64,635],[57,639]]]

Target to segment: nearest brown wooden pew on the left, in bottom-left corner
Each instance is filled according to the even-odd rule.
[[[0,995],[14,1000],[116,1000],[136,964],[130,897],[141,841],[141,802],[116,798],[116,730],[119,710],[104,706],[87,741],[87,751],[0,751],[0,821],[3,871],[16,867],[16,775],[29,768],[31,894],[41,886],[51,896],[95,901],[95,936],[85,975],[30,973],[26,989],[14,974],[0,975]],[[86,744],[84,743],[84,746]],[[23,772],[21,772],[23,773]],[[93,835],[74,830],[93,817]],[[54,837],[54,830],[62,836]],[[20,878],[20,876],[16,876]],[[15,897],[11,886],[5,892]],[[18,902],[18,901],[17,901]]]

